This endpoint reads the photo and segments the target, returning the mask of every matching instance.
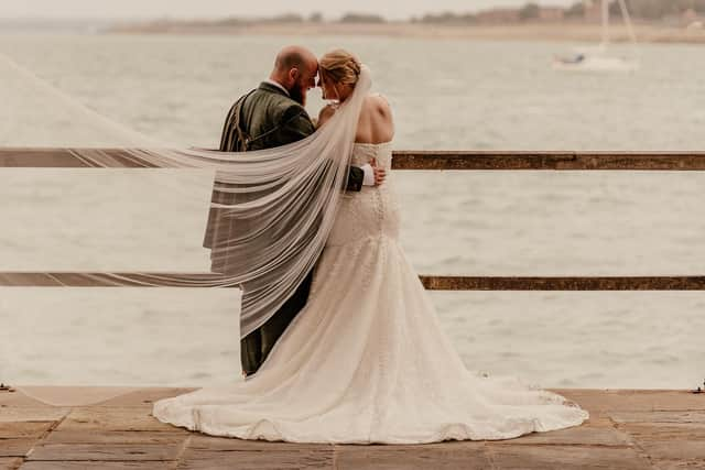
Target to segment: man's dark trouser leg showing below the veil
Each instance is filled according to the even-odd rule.
[[[304,308],[306,300],[308,300],[312,280],[313,270],[311,270],[296,292],[276,310],[272,318],[240,340],[242,371],[247,375],[258,371],[279,337],[282,336],[299,311]]]

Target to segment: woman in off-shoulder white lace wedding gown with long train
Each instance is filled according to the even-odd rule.
[[[318,125],[359,100],[350,163],[375,161],[389,172],[391,110],[369,95],[367,67],[336,51],[322,57],[319,77],[324,98],[336,101],[322,110]],[[214,436],[338,444],[508,439],[587,419],[560,395],[465,368],[404,255],[399,229],[393,176],[345,193],[308,302],[259,371],[161,400],[153,415]]]

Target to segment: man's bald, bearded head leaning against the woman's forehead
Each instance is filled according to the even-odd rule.
[[[306,91],[316,86],[318,59],[305,47],[286,46],[276,54],[270,79],[289,90],[292,99],[306,103]]]

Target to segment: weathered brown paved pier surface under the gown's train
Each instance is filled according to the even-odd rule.
[[[705,469],[705,394],[687,391],[556,390],[589,422],[503,441],[340,446],[209,437],[150,415],[155,400],[189,390],[91,406],[0,392],[0,469]]]

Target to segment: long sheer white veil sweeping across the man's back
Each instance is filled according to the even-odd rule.
[[[36,76],[32,79],[41,81]],[[229,196],[212,203],[217,217],[206,231],[213,266],[221,276],[181,285],[241,287],[241,337],[264,324],[291,297],[319,258],[347,183],[357,121],[370,87],[370,70],[362,66],[355,91],[329,121],[308,138],[275,149],[247,153],[173,150],[126,130],[134,149],[124,152],[156,167],[212,170],[216,193]],[[65,94],[61,98],[70,101]],[[104,166],[95,150],[75,152],[90,165]],[[158,281],[155,275],[140,273],[143,285]],[[115,283],[121,283],[117,275]]]

